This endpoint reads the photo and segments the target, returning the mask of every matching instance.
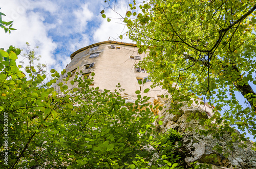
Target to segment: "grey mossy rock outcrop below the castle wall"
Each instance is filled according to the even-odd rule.
[[[125,96],[126,102],[134,103],[132,98]],[[223,168],[256,168],[256,152],[252,150],[252,143],[248,141],[247,148],[241,148],[239,142],[231,143],[231,133],[226,132],[219,139],[210,134],[199,134],[199,130],[204,129],[200,125],[200,120],[208,119],[212,116],[209,107],[182,105],[173,114],[169,110],[170,101],[167,99],[155,99],[152,104],[156,106],[152,109],[154,115],[159,116],[162,124],[156,123],[159,132],[166,132],[172,128],[182,135],[182,146],[178,150],[182,157],[182,165],[189,168],[191,163],[204,164],[203,168],[211,166],[213,169]],[[162,106],[163,109],[160,109]],[[189,120],[188,120],[189,119]],[[189,129],[189,130],[188,130]],[[239,132],[237,131],[239,134]],[[231,143],[231,144],[230,144]],[[152,151],[152,150],[151,150]]]

